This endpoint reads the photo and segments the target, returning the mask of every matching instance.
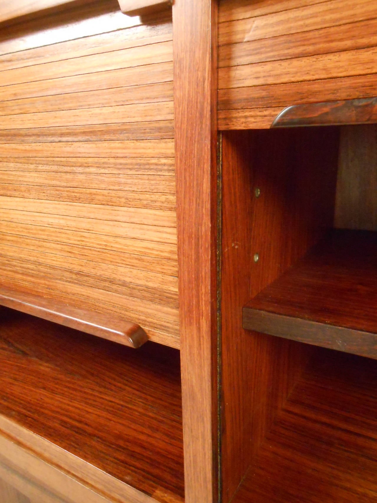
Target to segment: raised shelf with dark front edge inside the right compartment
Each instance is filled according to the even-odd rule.
[[[243,327],[377,358],[376,306],[377,233],[334,230],[244,307]]]

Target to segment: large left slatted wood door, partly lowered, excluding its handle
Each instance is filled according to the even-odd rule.
[[[171,12],[0,35],[0,275],[179,347]]]

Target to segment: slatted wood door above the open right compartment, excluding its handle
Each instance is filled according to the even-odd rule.
[[[269,128],[285,107],[376,96],[374,0],[221,0],[219,128]]]

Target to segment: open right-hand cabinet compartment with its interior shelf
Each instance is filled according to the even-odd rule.
[[[222,135],[224,502],[377,501],[376,131]]]

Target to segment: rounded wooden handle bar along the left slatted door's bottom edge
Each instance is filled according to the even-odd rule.
[[[32,314],[38,318],[69,326],[93,336],[109,339],[131,348],[148,341],[136,323],[85,309],[77,309],[53,299],[0,287],[0,305]]]

